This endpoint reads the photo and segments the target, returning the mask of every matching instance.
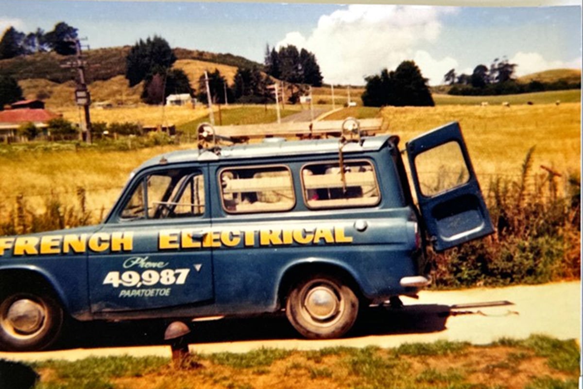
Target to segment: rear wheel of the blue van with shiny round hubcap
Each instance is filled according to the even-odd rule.
[[[335,276],[304,278],[287,296],[287,319],[308,339],[342,337],[352,328],[358,313],[359,299]]]

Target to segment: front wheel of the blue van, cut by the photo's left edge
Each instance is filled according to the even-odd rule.
[[[48,290],[12,289],[0,295],[0,348],[36,351],[48,348],[64,321],[61,305]]]

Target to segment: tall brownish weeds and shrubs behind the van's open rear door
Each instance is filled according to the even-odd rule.
[[[442,254],[430,253],[435,285],[459,288],[475,285],[542,283],[580,278],[580,180],[572,177],[566,197],[557,195],[556,177],[531,177],[529,150],[518,181],[498,179],[487,195],[496,233]]]

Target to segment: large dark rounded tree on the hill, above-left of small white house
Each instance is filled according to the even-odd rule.
[[[176,61],[176,56],[164,38],[154,35],[139,40],[125,58],[125,78],[129,86],[138,85],[154,74],[165,74]]]

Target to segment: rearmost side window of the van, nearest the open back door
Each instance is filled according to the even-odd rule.
[[[373,165],[367,161],[308,164],[301,169],[305,204],[309,208],[373,206],[380,191]]]

